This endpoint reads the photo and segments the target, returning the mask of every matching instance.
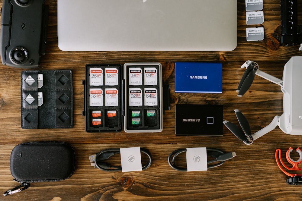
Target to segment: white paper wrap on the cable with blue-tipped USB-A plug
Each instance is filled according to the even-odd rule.
[[[120,161],[122,164],[122,172],[141,171],[142,159],[140,147],[121,148]]]

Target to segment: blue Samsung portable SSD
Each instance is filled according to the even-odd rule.
[[[222,93],[222,63],[175,62],[176,93]]]

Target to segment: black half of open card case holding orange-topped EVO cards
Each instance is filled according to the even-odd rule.
[[[122,130],[122,70],[119,64],[86,65],[86,80],[83,80],[85,109],[82,112],[86,132]]]

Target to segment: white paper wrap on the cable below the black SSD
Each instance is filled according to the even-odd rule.
[[[190,171],[207,171],[207,148],[187,148],[187,168]]]

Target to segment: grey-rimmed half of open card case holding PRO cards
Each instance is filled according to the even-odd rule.
[[[126,63],[125,132],[162,131],[162,65],[160,63]]]

